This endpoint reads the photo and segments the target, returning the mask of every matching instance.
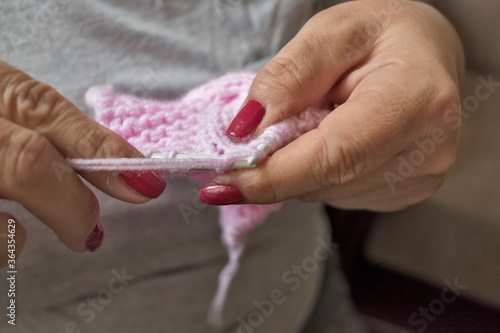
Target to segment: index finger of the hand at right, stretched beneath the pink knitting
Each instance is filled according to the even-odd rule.
[[[384,68],[366,76],[317,129],[279,149],[256,169],[233,170],[213,182],[240,189],[242,203],[274,203],[327,188],[353,194],[349,182],[385,164],[430,133],[435,122],[444,121],[433,118],[426,109],[429,105],[442,110],[454,102],[451,80],[436,96],[404,74],[404,69]]]

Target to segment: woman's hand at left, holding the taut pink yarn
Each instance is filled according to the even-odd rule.
[[[103,239],[99,203],[70,158],[141,157],[119,135],[88,118],[54,88],[0,62],[0,198],[21,203],[75,251],[95,251]],[[132,203],[158,197],[165,182],[153,172],[81,175],[103,192]],[[0,266],[7,258],[7,226],[0,212]],[[12,224],[12,223],[11,223]]]

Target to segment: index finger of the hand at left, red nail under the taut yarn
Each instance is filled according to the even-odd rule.
[[[43,135],[66,158],[143,157],[125,139],[90,119],[53,87],[2,62],[0,93],[0,117]],[[153,172],[81,175],[103,192],[134,203],[155,198],[165,188],[163,179]]]

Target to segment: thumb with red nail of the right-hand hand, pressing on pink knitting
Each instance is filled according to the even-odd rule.
[[[311,18],[260,70],[226,135],[246,140],[304,110],[366,57],[376,36],[367,34],[365,21],[347,15],[352,6],[357,4],[334,6]]]

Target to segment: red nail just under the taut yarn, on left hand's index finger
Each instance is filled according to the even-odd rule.
[[[162,193],[167,183],[153,171],[123,171],[121,179],[139,194],[156,199]]]

